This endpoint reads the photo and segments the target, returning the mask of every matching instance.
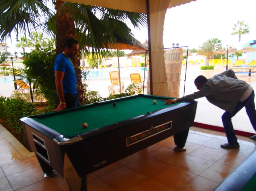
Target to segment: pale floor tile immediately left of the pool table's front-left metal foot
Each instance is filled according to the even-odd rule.
[[[24,170],[6,177],[14,190],[45,180],[41,167]]]

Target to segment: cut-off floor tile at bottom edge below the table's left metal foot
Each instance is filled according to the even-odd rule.
[[[63,189],[51,178],[44,179],[43,181],[21,188],[17,191],[63,191]]]

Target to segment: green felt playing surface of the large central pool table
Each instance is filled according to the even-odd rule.
[[[153,104],[153,100],[156,100],[157,103]],[[83,109],[79,110],[74,108],[59,114],[42,114],[39,118],[33,119],[63,134],[65,137],[72,137],[76,134],[171,106],[166,105],[165,102],[160,102],[161,100],[164,100],[164,98],[134,96],[131,99],[115,100],[116,107],[113,107],[113,101],[97,107],[83,106]],[[83,129],[83,123],[88,124],[86,129]]]

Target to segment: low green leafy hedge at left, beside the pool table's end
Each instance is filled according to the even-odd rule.
[[[36,114],[36,105],[23,99],[7,98],[3,104],[4,120],[10,128],[14,128],[18,136],[23,137],[22,124],[20,118]]]

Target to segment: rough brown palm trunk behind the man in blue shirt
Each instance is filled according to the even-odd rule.
[[[71,14],[65,11],[65,7],[61,10],[61,5],[63,1],[54,2],[56,9],[56,53],[60,54],[64,50],[65,41],[69,38],[76,39],[76,28],[74,24],[74,19]],[[77,74],[77,87],[82,87],[81,84],[81,69],[80,69],[80,59],[71,59]]]

